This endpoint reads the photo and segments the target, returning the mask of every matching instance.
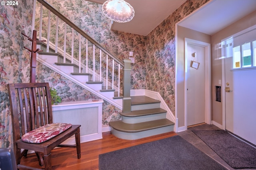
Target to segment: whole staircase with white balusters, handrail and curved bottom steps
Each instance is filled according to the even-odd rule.
[[[69,21],[67,18],[62,16],[62,14],[58,13],[50,4],[48,4],[44,0],[37,0],[41,3],[41,10],[42,6],[45,6],[49,10],[49,18],[50,12],[56,15],[56,18],[62,19],[66,24],[72,27],[72,47],[74,49],[74,36],[75,33],[73,31],[77,31],[79,35],[78,43],[76,47],[79,47],[79,57],[74,57],[73,54],[66,53],[66,42],[64,41],[64,49],[59,49],[58,47],[58,36],[56,36],[56,42],[51,43],[49,41],[49,32],[47,33],[47,38],[44,39],[42,37],[42,28],[39,28],[39,40],[46,40],[45,43],[39,43],[37,45],[38,49],[42,49],[43,52],[37,53],[37,61],[40,63],[48,66],[55,72],[58,72],[62,76],[68,78],[72,82],[78,84],[79,86],[87,89],[88,91],[96,94],[103,100],[109,102],[110,104],[124,109],[123,106],[127,106],[127,99],[128,104],[130,107],[130,111],[121,112],[120,115],[122,116],[122,120],[119,121],[111,121],[109,125],[111,127],[111,132],[116,137],[121,139],[140,139],[144,137],[149,137],[152,135],[157,135],[161,133],[166,133],[174,130],[174,123],[175,117],[171,113],[168,107],[163,107],[163,100],[156,100],[144,95],[139,96],[127,96],[127,90],[130,93],[130,88],[126,91],[124,89],[120,90],[120,70],[127,70],[126,64],[119,61],[114,55],[110,52],[106,51],[100,44],[98,44],[94,39],[89,37],[84,31],[78,28],[74,23]],[[36,6],[36,5],[34,5]],[[40,12],[42,14],[42,12]],[[52,15],[52,14],[51,14]],[[42,15],[40,16],[39,21],[42,20]],[[49,20],[50,22],[50,20]],[[40,23],[42,24],[42,23]],[[50,25],[48,24],[48,30],[50,30]],[[56,21],[56,28],[58,27],[58,19]],[[66,29],[66,26],[65,26]],[[73,30],[74,29],[74,30]],[[58,33],[58,29],[56,29],[56,34]],[[66,34],[66,31],[64,31]],[[64,35],[65,37],[66,35]],[[85,61],[81,61],[81,38],[86,38],[86,64]],[[66,39],[66,38],[64,38]],[[92,43],[89,47],[88,42]],[[89,61],[87,56],[88,48],[91,50],[90,53],[93,55],[93,61]],[[92,50],[93,49],[93,50]],[[98,52],[96,52],[98,51]],[[97,56],[96,56],[97,55]],[[95,69],[96,57],[99,57],[98,61],[101,64],[102,57],[106,57],[106,77],[103,77],[98,70]],[[88,61],[93,63],[93,68],[88,67]],[[112,63],[108,66],[108,63]],[[130,64],[130,63],[129,63]],[[103,68],[101,65],[99,68]],[[115,69],[115,70],[114,70]],[[108,71],[112,71],[111,78],[108,77]],[[116,74],[117,73],[117,74]],[[111,74],[111,73],[110,73]],[[125,77],[126,74],[124,74]],[[127,74],[128,75],[128,74]],[[114,80],[116,78],[117,80]],[[130,82],[126,82],[125,80],[130,81],[130,75],[128,78],[123,78],[123,84],[129,84]],[[122,91],[124,92],[124,96],[122,96]],[[130,103],[129,103],[130,99]],[[126,101],[126,102],[125,102]],[[131,105],[131,106],[130,106]],[[165,108],[165,109],[163,109]],[[167,111],[168,110],[168,111]],[[168,115],[166,115],[168,113]],[[169,119],[167,117],[169,116]],[[170,119],[171,117],[171,119]],[[172,121],[170,121],[172,120]]]

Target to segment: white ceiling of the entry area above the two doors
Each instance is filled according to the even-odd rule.
[[[213,35],[255,10],[256,0],[211,0],[178,25]]]

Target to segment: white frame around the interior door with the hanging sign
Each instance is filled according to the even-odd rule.
[[[188,129],[188,121],[187,121],[187,116],[188,116],[188,107],[187,107],[187,101],[188,101],[188,96],[187,96],[187,87],[188,87],[188,51],[187,47],[188,44],[192,45],[198,45],[201,47],[204,47],[204,64],[205,64],[205,74],[204,74],[204,97],[205,97],[205,108],[204,108],[204,113],[205,113],[205,123],[211,124],[211,45],[209,43],[205,43],[202,41],[194,40],[194,39],[189,39],[189,38],[184,38],[184,111],[185,111],[185,116],[184,116],[184,122],[185,122],[185,129]]]

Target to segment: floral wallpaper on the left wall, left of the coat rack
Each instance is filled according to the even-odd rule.
[[[29,82],[30,42],[33,1],[0,6],[0,147],[12,146],[12,124],[7,84]]]

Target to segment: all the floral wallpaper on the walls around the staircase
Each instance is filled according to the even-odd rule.
[[[54,8],[121,61],[128,57],[129,51],[133,51],[136,63],[132,64],[131,88],[159,92],[173,113],[175,23],[207,1],[186,1],[149,35],[142,36],[111,31],[110,20],[102,14],[100,4],[84,0],[48,0]],[[33,0],[18,0],[16,6],[0,6],[0,147],[13,145],[7,84],[29,82],[30,53],[23,47],[31,47],[31,43],[21,33],[31,36],[33,3]],[[46,21],[43,20],[43,25],[45,24]],[[54,31],[52,27],[52,32]],[[62,29],[60,33],[61,31]],[[63,39],[60,38],[60,42]],[[98,98],[41,63],[37,63],[36,73],[36,81],[49,82],[50,86],[57,89],[64,102]],[[120,109],[104,102],[103,126],[107,126],[109,121],[120,119],[119,112]]]

